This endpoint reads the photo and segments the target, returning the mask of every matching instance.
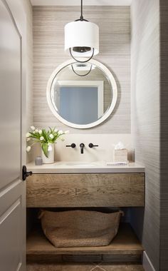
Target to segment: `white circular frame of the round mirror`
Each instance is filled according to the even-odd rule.
[[[114,78],[114,76],[112,76],[112,73],[110,72],[110,70],[107,67],[105,67],[102,63],[100,63],[99,61],[95,61],[94,59],[91,59],[89,61],[89,63],[91,63],[95,66],[98,66],[107,75],[107,78],[112,85],[112,103],[110,105],[110,108],[107,109],[105,114],[101,118],[99,118],[98,121],[94,121],[93,123],[89,123],[89,124],[70,123],[69,121],[66,121],[64,118],[62,118],[58,114],[58,112],[56,111],[56,108],[53,106],[53,103],[51,100],[51,86],[52,86],[53,80],[59,71],[61,71],[63,68],[65,68],[65,66],[68,66],[73,63],[76,63],[76,62],[72,59],[65,61],[61,65],[59,65],[51,74],[51,76],[48,80],[48,83],[47,83],[47,88],[46,88],[46,97],[47,97],[47,101],[48,101],[48,106],[51,109],[51,112],[53,113],[53,115],[56,116],[56,118],[58,118],[59,121],[61,121],[62,123],[64,123],[67,126],[70,126],[73,128],[78,128],[78,129],[86,129],[86,128],[92,128],[94,126],[98,126],[100,123],[103,123],[103,121],[105,121],[110,116],[110,114],[114,110],[116,102],[117,102],[117,84],[115,82],[115,78]]]

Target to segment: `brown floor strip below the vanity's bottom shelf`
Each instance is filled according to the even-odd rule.
[[[142,265],[114,265],[102,263],[28,264],[26,271],[144,271]]]

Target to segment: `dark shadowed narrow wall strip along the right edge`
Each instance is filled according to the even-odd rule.
[[[168,270],[168,1],[160,0],[160,270]]]

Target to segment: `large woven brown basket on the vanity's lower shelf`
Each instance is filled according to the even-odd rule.
[[[40,219],[44,234],[55,247],[96,247],[109,245],[117,235],[121,213],[42,210]]]

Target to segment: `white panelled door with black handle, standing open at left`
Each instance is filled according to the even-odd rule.
[[[0,270],[25,270],[25,182],[21,177],[22,39],[0,0]]]

